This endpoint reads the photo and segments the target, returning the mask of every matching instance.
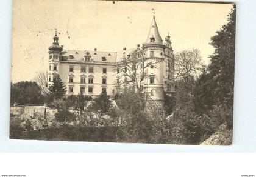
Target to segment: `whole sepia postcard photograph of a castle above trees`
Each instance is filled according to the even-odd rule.
[[[235,28],[232,3],[15,0],[10,139],[232,145]]]

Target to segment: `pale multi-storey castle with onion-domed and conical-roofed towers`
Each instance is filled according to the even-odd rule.
[[[115,95],[119,92],[118,67],[121,58],[129,55],[130,50],[123,52],[101,52],[94,50],[64,50],[59,45],[57,32],[54,42],[49,47],[48,84],[59,75],[66,85],[66,95],[82,95],[95,98],[102,92]],[[149,93],[151,101],[162,103],[164,92],[174,91],[174,55],[169,34],[165,41],[158,31],[155,16],[146,42],[142,45],[144,57],[148,63],[155,62],[156,67],[146,68],[148,77],[143,81],[144,92]]]

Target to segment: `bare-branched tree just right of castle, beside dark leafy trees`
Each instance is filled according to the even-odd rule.
[[[176,82],[182,89],[184,101],[192,93],[194,79],[202,72],[202,58],[197,49],[183,50],[175,55]]]

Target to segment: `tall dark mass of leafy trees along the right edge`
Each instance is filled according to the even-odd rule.
[[[234,6],[227,24],[212,37],[211,44],[215,47],[215,52],[210,56],[208,69],[199,76],[194,88],[196,112],[202,115],[211,112],[213,107],[226,107],[226,116],[222,118],[230,127],[233,117],[229,110],[233,110],[235,18]]]

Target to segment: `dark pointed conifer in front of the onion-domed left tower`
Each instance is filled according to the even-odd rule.
[[[60,76],[57,75],[54,78],[53,84],[49,86],[49,97],[52,99],[63,98],[66,94],[65,84],[60,79]]]

